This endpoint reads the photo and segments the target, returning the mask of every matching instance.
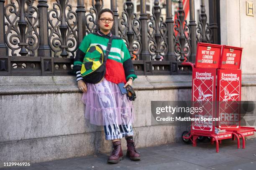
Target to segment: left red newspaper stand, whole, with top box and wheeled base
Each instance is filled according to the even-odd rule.
[[[202,107],[202,112],[193,114],[193,117],[216,118],[215,114],[215,89],[216,69],[219,66],[221,45],[198,43],[195,65],[184,62],[182,65],[192,67],[192,102],[193,107]],[[192,142],[197,146],[199,137],[209,137],[212,143],[216,141],[216,152],[219,152],[219,142],[223,139],[232,138],[233,132],[220,132],[215,134],[215,120],[192,121],[190,132],[182,133],[184,142]]]

